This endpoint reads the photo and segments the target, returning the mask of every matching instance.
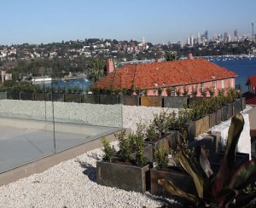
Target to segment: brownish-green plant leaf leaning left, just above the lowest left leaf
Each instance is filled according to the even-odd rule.
[[[183,148],[180,145],[177,146],[177,154],[178,160],[183,166],[183,169],[192,176],[198,196],[203,198],[204,188],[206,187],[204,177],[201,175],[201,172],[196,170],[195,165],[189,159],[189,156],[184,153]]]

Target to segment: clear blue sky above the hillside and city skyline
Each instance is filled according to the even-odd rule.
[[[256,33],[256,0],[0,0],[0,45],[103,38],[186,42]]]

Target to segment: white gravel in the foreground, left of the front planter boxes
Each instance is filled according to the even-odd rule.
[[[116,144],[116,142],[115,142]],[[0,187],[0,207],[159,207],[148,194],[96,184],[102,149]],[[82,164],[82,165],[81,165]]]

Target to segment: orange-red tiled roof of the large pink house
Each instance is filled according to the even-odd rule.
[[[235,78],[237,74],[204,59],[125,65],[102,78],[92,88],[135,89],[177,86]]]

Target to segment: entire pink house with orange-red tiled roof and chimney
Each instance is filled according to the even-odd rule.
[[[157,89],[161,88],[161,95],[166,96],[166,89],[171,88],[175,96],[177,90],[183,94],[185,88],[190,95],[192,88],[197,86],[197,96],[201,96],[200,89],[211,87],[217,93],[229,86],[235,88],[237,77],[235,72],[204,59],[193,59],[191,55],[188,60],[125,65],[116,70],[113,70],[113,61],[108,59],[107,73],[105,78],[92,85],[92,89],[114,91],[133,88],[147,90],[148,95],[158,95]]]

